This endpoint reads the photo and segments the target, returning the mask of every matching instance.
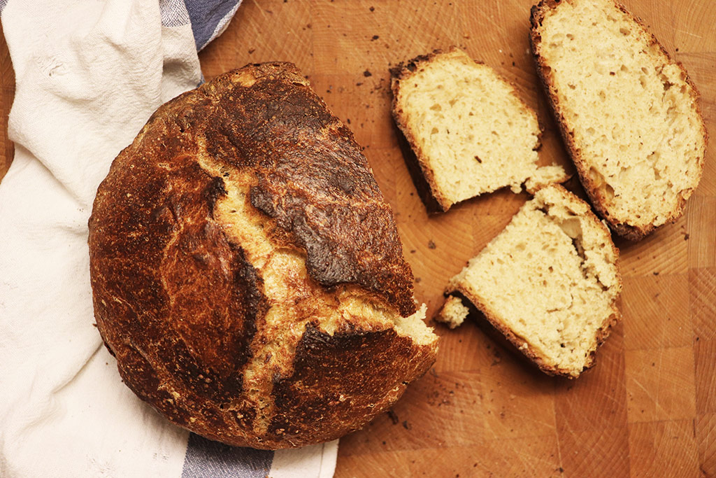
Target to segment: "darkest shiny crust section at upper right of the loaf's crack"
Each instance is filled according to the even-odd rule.
[[[412,272],[390,207],[352,133],[290,75],[221,92],[205,131],[208,153],[256,177],[251,204],[275,220],[273,239],[306,252],[326,287],[356,283],[415,312]]]

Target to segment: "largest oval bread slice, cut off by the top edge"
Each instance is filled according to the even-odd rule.
[[[531,23],[538,73],[596,211],[632,240],[676,221],[707,140],[684,68],[613,0],[543,0]]]

